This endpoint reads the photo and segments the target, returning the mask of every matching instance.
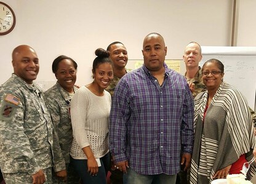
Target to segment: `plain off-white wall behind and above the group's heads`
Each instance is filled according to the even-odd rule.
[[[142,42],[151,32],[164,36],[167,59],[182,59],[185,45],[192,40],[204,46],[231,43],[233,0],[1,1],[14,9],[17,23],[10,34],[0,37],[0,83],[10,77],[11,53],[20,44],[31,45],[38,53],[38,80],[54,79],[52,61],[63,54],[77,61],[77,83],[85,85],[91,80],[95,49],[116,40],[126,45],[129,59],[142,59]],[[242,6],[246,1],[250,4]],[[256,2],[240,2],[243,10],[248,5],[255,7]],[[240,18],[246,16],[243,13],[247,11]],[[251,37],[246,39],[249,42]]]

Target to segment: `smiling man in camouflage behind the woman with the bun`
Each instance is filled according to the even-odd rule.
[[[128,61],[128,55],[126,47],[121,42],[113,42],[108,45],[106,50],[110,53],[110,58],[113,62],[113,71],[114,71],[114,79],[110,83],[110,85],[106,88],[106,91],[110,92],[111,97],[114,95],[114,88],[118,84],[119,80],[127,74],[126,64]],[[113,159],[111,158],[111,168],[110,168],[111,176],[111,184],[122,184],[123,173],[114,167]]]

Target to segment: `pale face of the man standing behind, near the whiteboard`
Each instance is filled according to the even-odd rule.
[[[201,48],[198,44],[192,42],[186,45],[183,60],[185,61],[186,67],[198,67],[199,62],[202,59]]]

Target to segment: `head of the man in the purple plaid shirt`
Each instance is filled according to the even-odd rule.
[[[164,67],[167,47],[158,34],[146,36],[143,42],[144,64],[149,71],[160,71]]]

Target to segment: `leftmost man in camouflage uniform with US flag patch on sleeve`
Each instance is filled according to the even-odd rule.
[[[39,59],[33,48],[20,45],[12,53],[14,74],[0,86],[0,167],[8,183],[52,183],[52,166],[66,173],[57,134],[33,83]],[[65,174],[63,174],[65,175]]]

